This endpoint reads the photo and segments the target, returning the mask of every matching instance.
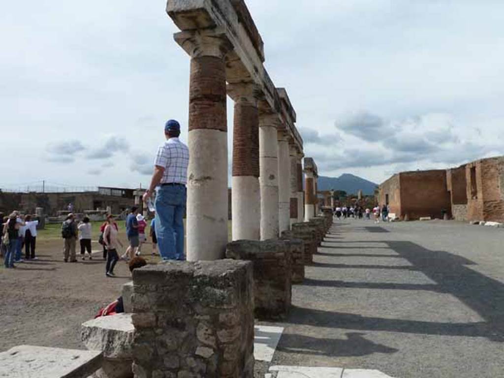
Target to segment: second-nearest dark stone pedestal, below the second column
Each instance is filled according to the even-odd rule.
[[[254,313],[260,320],[285,319],[291,306],[291,246],[285,240],[238,240],[226,257],[254,264]]]

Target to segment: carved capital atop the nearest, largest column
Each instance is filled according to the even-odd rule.
[[[184,30],[173,35],[175,42],[184,49],[191,57],[224,56],[233,49],[231,41],[226,36],[224,29]]]

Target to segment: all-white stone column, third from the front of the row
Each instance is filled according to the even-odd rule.
[[[259,118],[259,183],[261,187],[261,240],[279,236],[277,114]]]

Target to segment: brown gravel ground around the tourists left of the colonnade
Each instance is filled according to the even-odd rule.
[[[80,325],[120,295],[131,280],[128,264],[119,261],[117,277],[107,278],[101,251],[92,261],[78,255],[79,262],[64,263],[61,239],[37,243],[38,261],[0,267],[0,351],[21,344],[85,349]]]

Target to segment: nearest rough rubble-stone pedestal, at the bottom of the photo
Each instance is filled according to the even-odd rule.
[[[136,378],[252,378],[253,265],[166,262],[133,271]]]

